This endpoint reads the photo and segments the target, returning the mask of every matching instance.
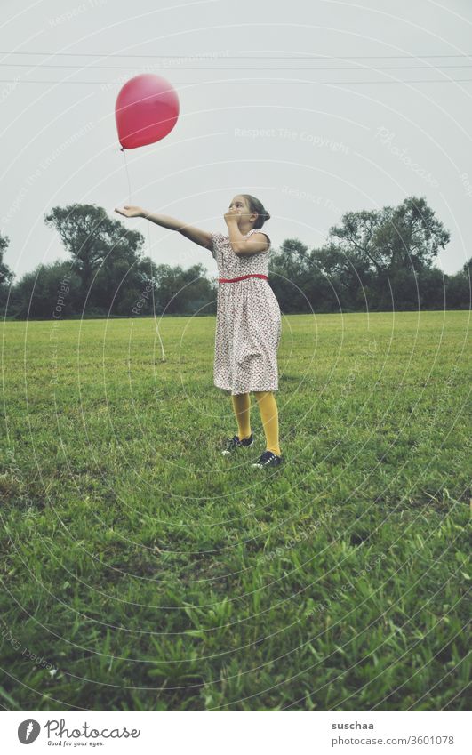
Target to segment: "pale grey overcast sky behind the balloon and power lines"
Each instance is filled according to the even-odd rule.
[[[4,260],[22,274],[67,258],[44,226],[54,205],[120,219],[126,159],[132,204],[226,231],[230,199],[253,194],[273,246],[322,245],[342,213],[426,197],[452,235],[436,263],[455,272],[472,253],[471,54],[470,0],[3,0]],[[180,119],[124,154],[116,96],[150,71]],[[121,220],[145,253],[150,227],[154,261],[216,275],[180,234]]]

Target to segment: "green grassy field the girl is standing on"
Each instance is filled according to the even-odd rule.
[[[468,312],[284,317],[283,468],[214,318],[4,325],[8,710],[465,710]]]

